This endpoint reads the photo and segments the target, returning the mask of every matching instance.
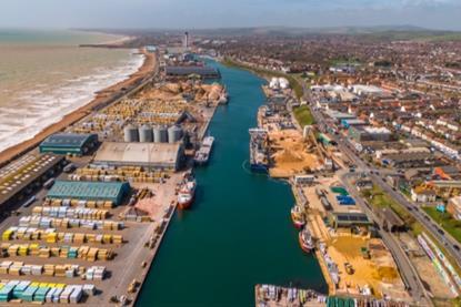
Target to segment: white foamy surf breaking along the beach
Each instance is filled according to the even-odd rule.
[[[14,108],[0,106],[0,151],[32,139],[66,114],[83,106],[96,93],[136,73],[144,55],[131,50],[129,58],[119,65],[98,66],[88,75],[64,80],[64,84],[48,90],[37,84],[23,92]]]

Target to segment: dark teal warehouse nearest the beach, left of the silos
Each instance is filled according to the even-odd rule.
[[[57,133],[39,146],[41,153],[84,155],[98,144],[98,134]]]

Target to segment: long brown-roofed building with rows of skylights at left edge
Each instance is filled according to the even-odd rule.
[[[0,170],[0,205],[14,205],[64,165],[63,156],[28,154]]]

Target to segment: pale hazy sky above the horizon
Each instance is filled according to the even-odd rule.
[[[1,28],[402,24],[461,30],[461,0],[0,0]]]

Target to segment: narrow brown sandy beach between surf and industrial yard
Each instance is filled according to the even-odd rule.
[[[4,165],[12,158],[18,155],[23,154],[24,152],[32,150],[40,142],[42,142],[50,134],[57,133],[67,126],[76,123],[77,121],[83,119],[88,115],[93,109],[106,103],[111,99],[117,92],[120,92],[123,88],[128,89],[131,85],[136,84],[138,81],[142,80],[146,75],[151,73],[157,65],[156,57],[152,53],[148,53],[146,50],[140,49],[140,52],[144,54],[144,62],[139,68],[138,72],[131,74],[128,79],[122,82],[119,82],[114,85],[111,85],[102,91],[99,91],[96,98],[90,101],[88,104],[77,109],[76,111],[64,115],[61,121],[51,124],[47,129],[39,132],[32,139],[29,139],[22,143],[19,143],[14,146],[11,146],[2,152],[0,152],[0,165]]]

